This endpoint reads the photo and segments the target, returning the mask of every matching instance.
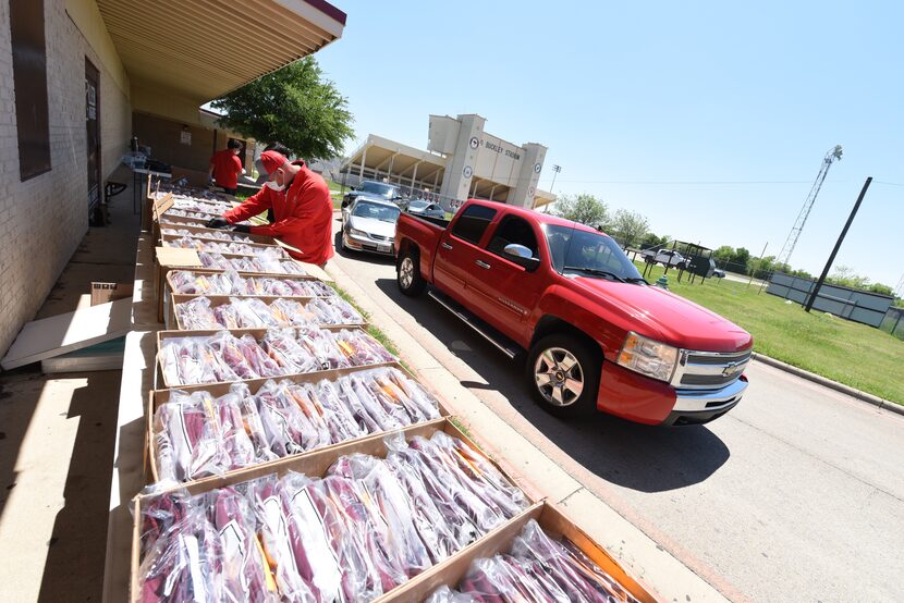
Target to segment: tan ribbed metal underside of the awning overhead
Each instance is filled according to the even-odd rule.
[[[201,104],[342,36],[323,0],[97,0],[135,85]]]

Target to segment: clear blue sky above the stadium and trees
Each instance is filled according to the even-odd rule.
[[[334,3],[347,25],[317,59],[355,115],[346,151],[369,133],[426,148],[430,113],[479,113],[549,147],[541,188],[557,163],[555,194],[757,256],[840,144],[791,263],[821,271],[874,176],[835,266],[904,273],[904,4]]]

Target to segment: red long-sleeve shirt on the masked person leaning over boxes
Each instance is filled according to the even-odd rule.
[[[304,161],[293,164],[301,165],[302,170],[286,190],[279,193],[265,186],[241,206],[227,211],[223,218],[234,224],[272,209],[276,221],[266,226],[252,226],[252,234],[280,238],[302,250],[301,254],[289,251],[293,258],[319,266],[334,254],[330,189],[327,181],[308,170]]]

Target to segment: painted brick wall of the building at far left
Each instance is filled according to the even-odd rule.
[[[101,176],[131,136],[129,98],[64,10],[45,0],[52,169],[20,182],[10,3],[0,2],[0,356],[32,320],[88,230],[85,58],[100,70]]]

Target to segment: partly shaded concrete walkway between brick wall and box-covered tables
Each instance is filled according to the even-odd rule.
[[[131,187],[110,210],[112,224],[88,230],[36,318],[89,305],[91,281],[132,282]],[[39,364],[0,373],[0,601],[100,601],[120,378],[46,376]]]

